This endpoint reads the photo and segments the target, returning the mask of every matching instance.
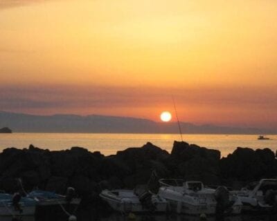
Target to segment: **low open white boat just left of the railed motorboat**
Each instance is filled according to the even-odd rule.
[[[104,190],[100,197],[108,202],[112,209],[122,213],[166,212],[168,206],[166,200],[150,191]]]

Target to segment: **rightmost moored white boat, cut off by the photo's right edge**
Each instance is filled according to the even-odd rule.
[[[269,210],[277,203],[277,180],[262,179],[259,182],[251,182],[233,193],[240,198],[244,211]]]

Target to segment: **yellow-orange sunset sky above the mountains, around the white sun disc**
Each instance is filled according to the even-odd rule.
[[[277,128],[276,21],[272,0],[0,0],[0,111],[159,121],[173,95],[183,122]]]

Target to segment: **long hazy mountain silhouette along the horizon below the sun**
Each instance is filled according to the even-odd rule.
[[[183,133],[276,134],[277,131],[181,122]],[[28,115],[0,111],[0,128],[13,132],[37,133],[179,133],[176,122],[153,122],[149,119],[105,115]]]

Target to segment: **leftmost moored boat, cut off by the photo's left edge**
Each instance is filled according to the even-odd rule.
[[[21,198],[19,194],[0,193],[0,216],[34,215],[35,206],[33,199]]]

